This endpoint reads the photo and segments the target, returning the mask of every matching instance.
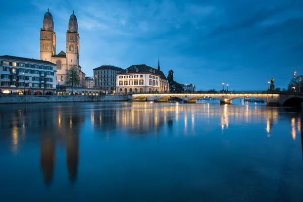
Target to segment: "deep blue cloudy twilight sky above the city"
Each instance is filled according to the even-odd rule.
[[[78,19],[80,65],[87,76],[103,64],[146,64],[174,71],[197,89],[287,87],[303,74],[303,1],[2,1],[0,55],[39,59],[39,31],[49,8],[56,54],[66,52],[72,11]]]

